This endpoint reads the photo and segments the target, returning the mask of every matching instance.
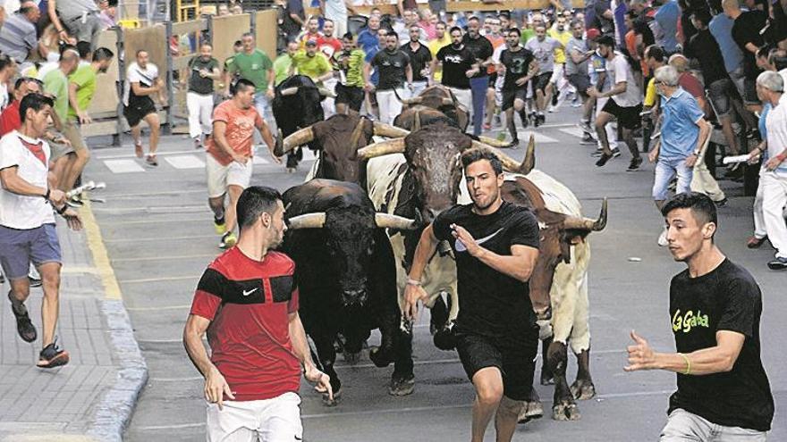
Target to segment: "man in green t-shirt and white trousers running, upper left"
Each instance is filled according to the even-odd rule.
[[[241,36],[243,50],[235,54],[233,63],[227,66],[231,74],[238,74],[241,79],[254,83],[254,107],[265,118],[268,127],[275,133],[276,121],[271,111],[274,99],[274,63],[261,49],[256,47],[254,35],[247,32]],[[230,95],[230,85],[224,86],[224,95]]]

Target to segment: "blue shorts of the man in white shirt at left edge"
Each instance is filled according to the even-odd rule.
[[[0,226],[0,265],[8,279],[27,278],[30,263],[63,263],[55,224],[36,229]]]

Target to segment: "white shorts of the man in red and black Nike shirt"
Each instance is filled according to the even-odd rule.
[[[284,393],[260,401],[207,404],[207,442],[294,442],[302,440],[300,396]]]

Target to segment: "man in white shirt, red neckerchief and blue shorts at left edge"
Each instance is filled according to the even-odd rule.
[[[38,367],[54,368],[68,363],[68,353],[57,346],[58,292],[61,252],[55,232],[55,208],[72,229],[81,229],[79,216],[65,204],[65,194],[49,181],[51,151],[41,137],[54,103],[51,98],[29,94],[21,100],[21,129],[0,140],[0,264],[11,282],[8,298],[21,338],[38,338],[24,305],[30,296],[30,263],[44,281],[41,305],[43,349]]]

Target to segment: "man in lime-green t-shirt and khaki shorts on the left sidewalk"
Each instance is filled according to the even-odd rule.
[[[77,45],[80,51],[80,58],[87,60],[90,55],[90,44],[80,41]],[[96,95],[97,74],[106,73],[109,65],[112,64],[114,54],[106,47],[99,47],[93,52],[92,61],[81,63],[71,75],[68,76],[68,113],[63,121],[63,136],[71,143],[74,156],[66,166],[65,177],[60,188],[68,191],[73,188],[77,177],[80,176],[90,160],[90,152],[85,138],[82,137],[80,130],[81,124],[89,124],[92,119],[88,114],[90,102]],[[79,196],[74,196],[69,204],[80,206]]]

